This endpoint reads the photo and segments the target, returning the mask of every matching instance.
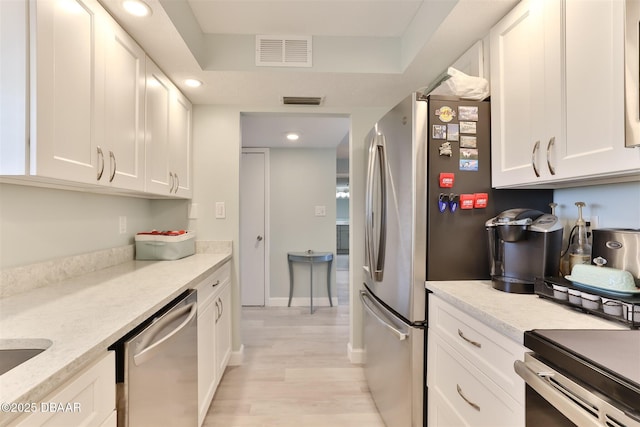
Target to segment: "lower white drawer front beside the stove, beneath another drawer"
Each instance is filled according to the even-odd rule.
[[[437,335],[429,340],[428,357],[430,425],[448,419],[474,427],[524,426],[524,405]]]

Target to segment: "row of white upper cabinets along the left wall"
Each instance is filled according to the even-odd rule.
[[[191,103],[97,0],[0,8],[0,175],[191,197]]]

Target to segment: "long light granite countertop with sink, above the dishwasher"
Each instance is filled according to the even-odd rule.
[[[0,375],[0,403],[38,403],[231,252],[129,261],[0,299],[0,339],[46,339],[43,353]],[[0,413],[0,425],[12,415]]]

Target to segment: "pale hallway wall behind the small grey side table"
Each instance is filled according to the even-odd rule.
[[[270,150],[270,298],[288,300],[288,252],[336,251],[336,150],[272,148]],[[325,216],[316,216],[323,206]],[[294,263],[294,298],[309,302],[309,267]],[[314,269],[314,297],[326,298],[326,268]],[[335,263],[331,270],[332,296]],[[328,304],[328,302],[327,302]]]

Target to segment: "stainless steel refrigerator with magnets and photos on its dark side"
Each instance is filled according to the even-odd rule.
[[[425,281],[489,279],[485,221],[552,192],[491,189],[489,102],[414,93],[367,142],[365,375],[388,427],[423,427]]]

